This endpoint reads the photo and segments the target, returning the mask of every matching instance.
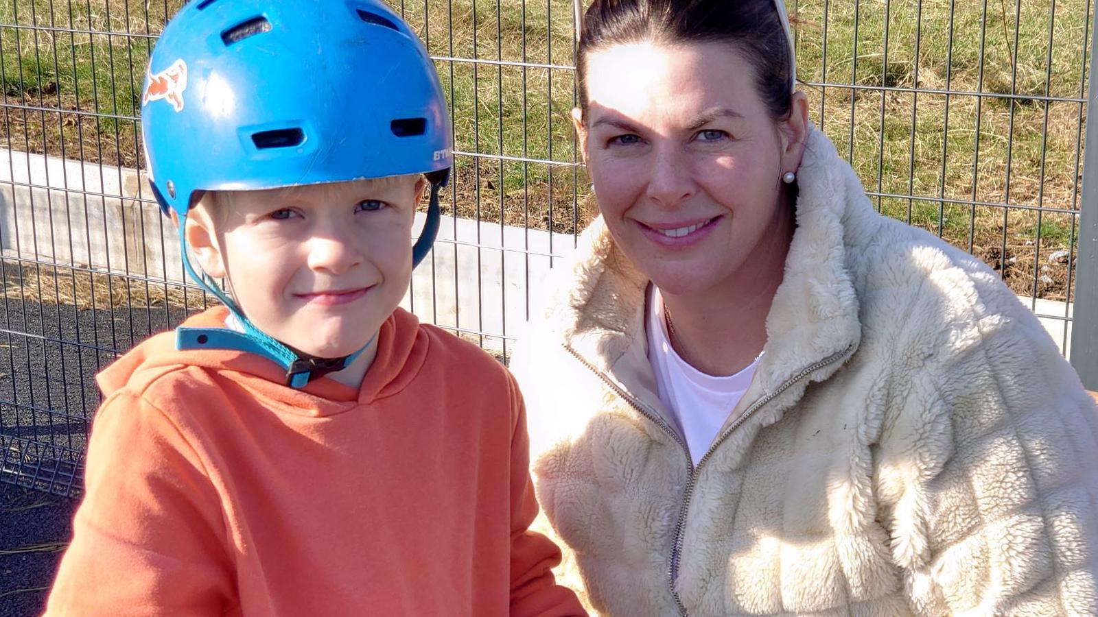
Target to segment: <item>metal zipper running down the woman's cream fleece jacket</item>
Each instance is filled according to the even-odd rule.
[[[686,487],[683,491],[683,498],[679,506],[679,519],[675,521],[674,543],[672,545],[671,548],[671,560],[670,560],[670,565],[668,568],[668,586],[671,590],[671,596],[675,601],[675,606],[679,608],[679,614],[682,617],[687,617],[688,613],[686,612],[686,606],[683,604],[682,598],[679,596],[679,592],[675,590],[675,582],[679,580],[679,556],[682,552],[682,547],[683,547],[683,530],[685,529],[686,526],[686,511],[690,508],[691,498],[694,496],[694,483],[697,480],[697,470],[701,469],[702,465],[705,464],[707,460],[709,460],[709,457],[713,455],[713,452],[717,449],[717,447],[719,447],[725,441],[725,439],[728,438],[729,435],[731,435],[737,428],[739,428],[744,422],[747,422],[748,418],[750,418],[763,405],[776,399],[780,394],[788,390],[794,383],[797,383],[798,381],[808,377],[809,374],[847,356],[850,352],[850,350],[853,349],[854,346],[851,345],[850,347],[843,349],[842,351],[832,354],[827,358],[824,358],[822,360],[806,367],[800,372],[798,372],[797,374],[793,375],[792,378],[783,382],[782,385],[780,385],[773,392],[766,394],[762,399],[752,403],[751,406],[748,407],[747,411],[744,411],[743,414],[740,415],[740,417],[736,418],[732,422],[732,424],[728,428],[726,428],[724,433],[720,434],[720,437],[718,437],[717,440],[714,441],[712,446],[709,446],[709,449],[706,450],[705,455],[701,459],[698,459],[697,467],[695,467],[694,460],[690,456],[690,448],[682,440],[682,438],[679,437],[679,434],[675,433],[670,426],[668,426],[668,424],[663,420],[663,418],[659,416],[659,414],[652,412],[651,410],[642,405],[640,401],[637,401],[632,395],[628,394],[621,386],[615,383],[614,380],[606,377],[605,373],[600,371],[597,368],[594,367],[594,364],[592,364],[582,356],[580,356],[568,344],[563,345],[564,349],[567,349],[569,354],[574,356],[575,359],[580,361],[580,363],[582,363],[584,367],[587,367],[587,369],[594,372],[595,375],[597,375],[598,379],[601,379],[604,383],[606,383],[606,385],[608,385],[612,390],[614,390],[614,392],[616,392],[617,395],[621,397],[621,400],[624,400],[631,407],[640,412],[642,416],[654,422],[657,426],[659,426],[661,429],[663,429],[664,433],[666,433],[672,439],[674,439],[675,442],[679,444],[679,446],[682,448],[683,453],[686,457],[686,468],[688,470],[688,473],[686,474]]]

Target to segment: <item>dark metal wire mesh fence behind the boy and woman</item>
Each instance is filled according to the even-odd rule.
[[[209,303],[141,172],[145,65],[181,3],[0,0],[0,482],[78,495],[94,373]],[[394,7],[436,60],[457,150],[406,305],[502,357],[592,215],[572,0]],[[1089,0],[788,9],[810,113],[876,206],[984,259],[1066,348]]]

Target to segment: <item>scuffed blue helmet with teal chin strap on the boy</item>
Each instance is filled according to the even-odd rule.
[[[449,116],[423,44],[379,0],[197,0],[168,22],[142,91],[149,183],[182,223],[203,191],[238,191],[425,173],[427,223],[453,164]],[[250,324],[213,281],[183,266],[243,324],[179,328],[181,348],[255,351],[301,386],[351,358],[302,358]],[[243,337],[243,338],[242,338]],[[307,366],[306,366],[307,364]]]

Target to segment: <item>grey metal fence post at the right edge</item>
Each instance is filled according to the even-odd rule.
[[[1095,18],[1098,23],[1098,15]],[[1079,202],[1079,246],[1075,268],[1075,313],[1072,322],[1072,366],[1083,385],[1098,391],[1098,36],[1090,31],[1090,83],[1087,94],[1087,137],[1083,161],[1083,201]]]

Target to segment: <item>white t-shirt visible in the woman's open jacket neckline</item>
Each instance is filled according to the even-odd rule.
[[[759,359],[736,374],[703,373],[680,358],[671,346],[663,319],[663,296],[656,285],[649,292],[648,306],[648,361],[656,372],[660,401],[671,412],[668,419],[686,437],[691,459],[697,464],[728,414],[743,397]]]

